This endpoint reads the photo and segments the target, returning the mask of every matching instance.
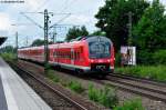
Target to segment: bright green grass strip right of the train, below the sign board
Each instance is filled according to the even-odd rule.
[[[137,66],[116,68],[115,72],[158,81],[166,81],[166,66]]]

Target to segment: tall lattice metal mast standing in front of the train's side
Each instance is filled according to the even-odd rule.
[[[48,41],[48,29],[49,29],[49,14],[48,10],[44,10],[44,66],[45,66],[45,72],[48,69],[48,62],[49,62],[49,41]]]

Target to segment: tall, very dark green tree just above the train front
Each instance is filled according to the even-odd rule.
[[[118,50],[127,43],[128,12],[133,13],[133,24],[136,24],[148,6],[145,0],[106,0],[95,16],[98,20],[96,27],[106,32],[106,37],[112,39]]]

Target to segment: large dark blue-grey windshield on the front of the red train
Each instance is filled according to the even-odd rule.
[[[104,37],[95,37],[89,41],[89,53],[91,59],[102,59],[111,57],[111,41]]]

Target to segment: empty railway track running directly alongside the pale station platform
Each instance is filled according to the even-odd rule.
[[[69,98],[66,94],[64,94],[61,91],[54,89],[53,87],[51,87],[50,84],[48,84],[46,82],[41,80],[40,78],[37,78],[33,73],[31,73],[27,70],[23,70],[20,67],[18,67],[17,64],[13,64],[13,63],[12,63],[12,68],[14,70],[17,70],[17,72],[19,71],[21,73],[25,73],[28,77],[30,77],[31,79],[33,79],[38,83],[42,84],[44,88],[52,91],[55,96],[59,96],[59,98],[61,98],[61,99],[58,99],[58,100],[63,100],[63,103],[62,103],[63,107],[59,107],[59,108],[61,108],[60,110],[62,110],[62,109],[63,110],[65,110],[65,109],[68,109],[68,110],[89,110],[87,107],[84,107],[84,106],[77,103],[75,100]],[[59,109],[55,109],[55,110],[59,110]]]

